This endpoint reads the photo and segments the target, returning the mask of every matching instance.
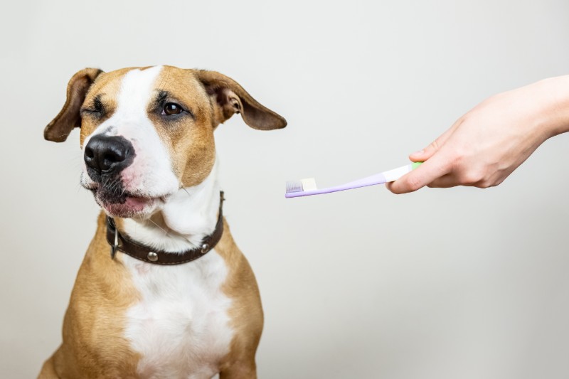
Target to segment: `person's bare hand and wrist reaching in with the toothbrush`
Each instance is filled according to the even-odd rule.
[[[539,145],[569,131],[569,75],[489,97],[429,146],[409,156],[425,163],[387,188],[499,185]]]

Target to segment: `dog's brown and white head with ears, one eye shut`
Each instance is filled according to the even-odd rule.
[[[108,214],[144,217],[210,174],[213,131],[235,113],[255,129],[287,125],[237,82],[213,71],[86,68],[69,81],[65,105],[44,136],[63,142],[80,127],[82,186]]]

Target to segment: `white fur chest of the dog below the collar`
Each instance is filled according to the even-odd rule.
[[[183,265],[124,257],[140,301],[127,310],[126,337],[141,354],[142,378],[211,378],[233,338],[221,290],[228,268],[215,250]]]

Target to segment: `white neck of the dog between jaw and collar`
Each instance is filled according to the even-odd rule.
[[[149,218],[125,218],[123,231],[139,243],[167,252],[181,252],[201,246],[218,221],[220,187],[218,163],[208,177],[193,187],[181,188],[164,200]]]

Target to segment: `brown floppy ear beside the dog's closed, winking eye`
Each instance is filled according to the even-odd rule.
[[[85,68],[73,75],[67,85],[67,100],[46,129],[43,137],[48,141],[63,142],[75,127],[81,127],[79,111],[85,101],[85,95],[97,76],[102,73],[98,68]]]

